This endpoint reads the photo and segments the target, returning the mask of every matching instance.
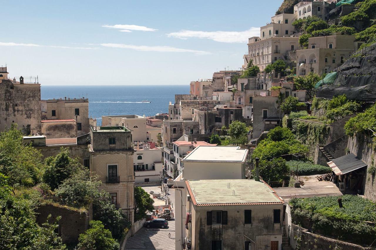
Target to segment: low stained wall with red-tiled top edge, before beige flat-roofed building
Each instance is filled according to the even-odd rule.
[[[77,123],[71,122],[42,122],[42,135],[47,139],[77,137]]]

